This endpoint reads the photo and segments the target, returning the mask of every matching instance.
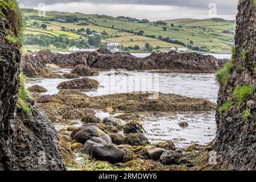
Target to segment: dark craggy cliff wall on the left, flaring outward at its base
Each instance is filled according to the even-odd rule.
[[[48,118],[32,101],[30,114],[15,112],[21,57],[15,38],[19,18],[9,12],[3,10],[6,16],[0,18],[0,171],[63,170],[59,138]]]

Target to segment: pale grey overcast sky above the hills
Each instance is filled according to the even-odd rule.
[[[131,16],[139,19],[167,20],[176,18],[235,19],[238,0],[19,0],[20,7],[46,10]],[[210,5],[210,7],[209,7]],[[216,9],[215,9],[216,7]]]

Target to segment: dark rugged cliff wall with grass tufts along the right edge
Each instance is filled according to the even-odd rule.
[[[238,3],[236,53],[218,93],[215,147],[222,169],[256,170],[256,5]],[[229,103],[229,104],[228,104]]]

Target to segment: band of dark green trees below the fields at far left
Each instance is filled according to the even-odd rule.
[[[69,40],[67,35],[49,36],[26,34],[23,36],[23,45],[38,45],[40,47],[49,47],[51,44],[56,48],[67,48],[68,46],[89,47],[85,40]]]

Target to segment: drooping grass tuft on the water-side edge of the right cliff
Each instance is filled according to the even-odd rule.
[[[224,65],[223,68],[221,68],[215,75],[215,79],[218,82],[220,86],[223,86],[230,80],[232,77],[232,68],[233,68],[233,63],[232,61],[229,61]]]

